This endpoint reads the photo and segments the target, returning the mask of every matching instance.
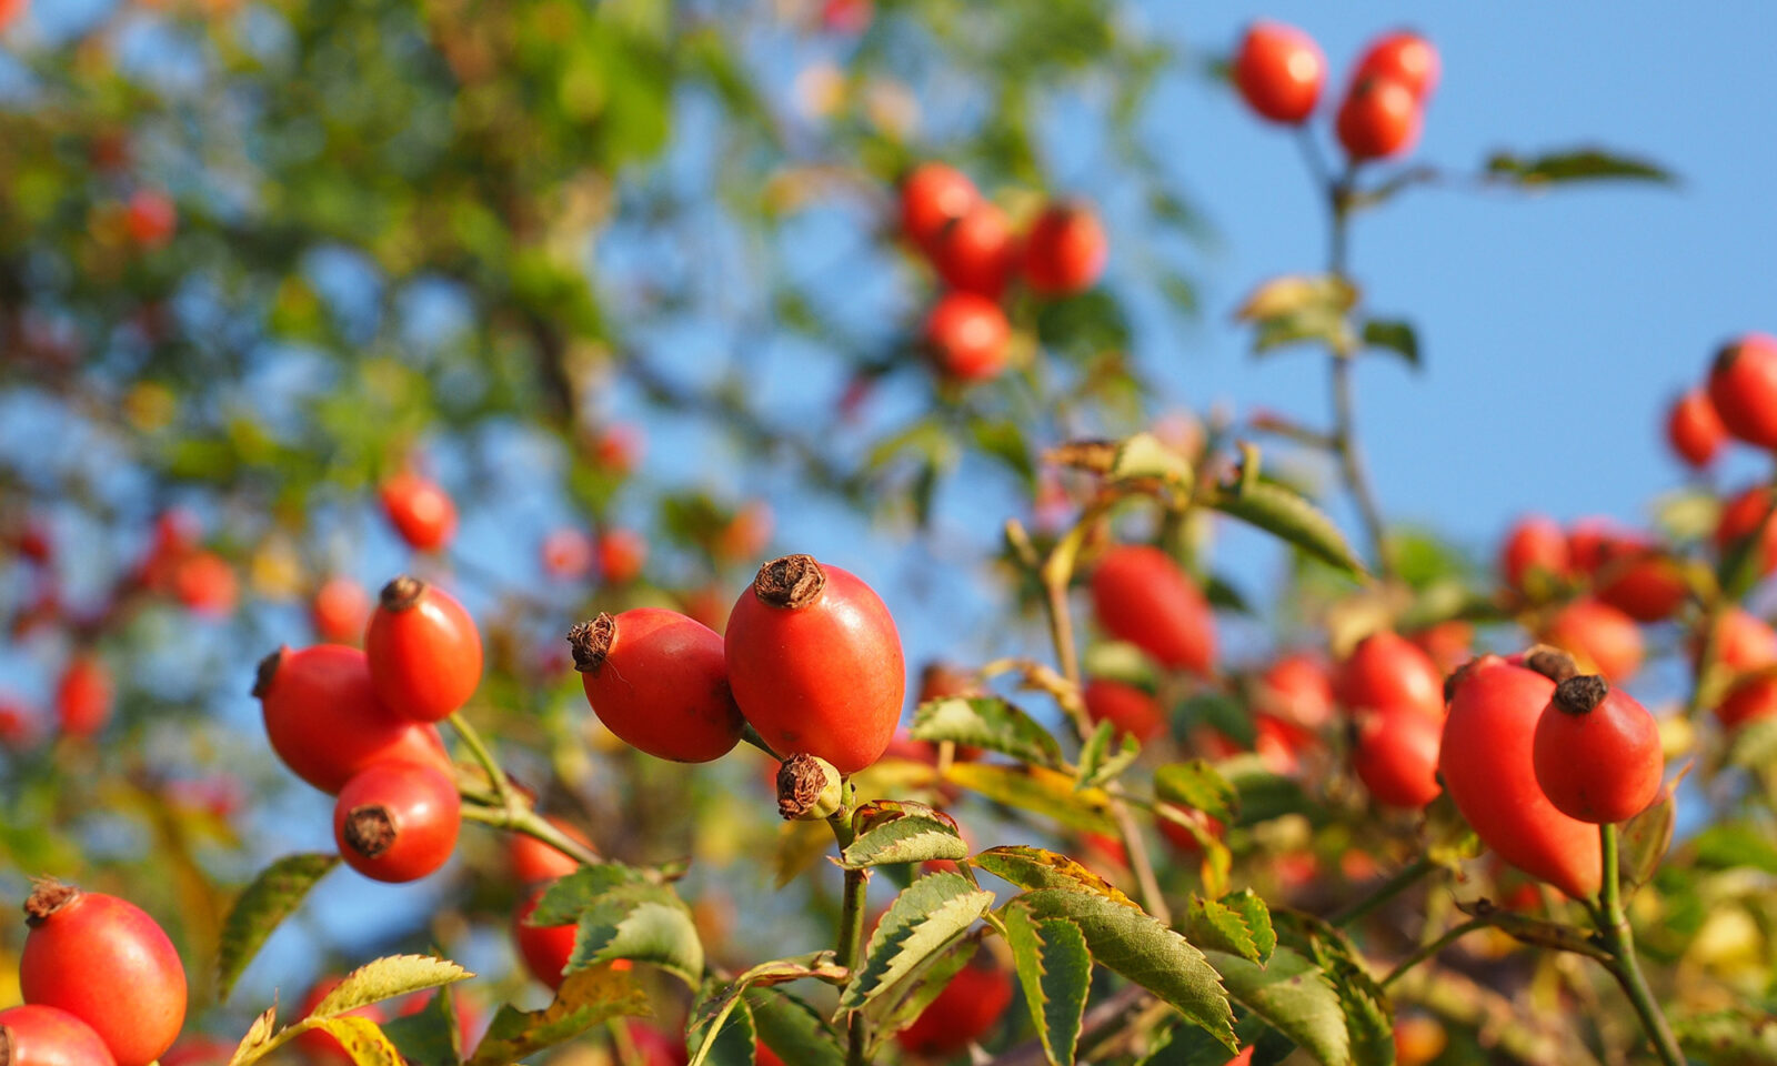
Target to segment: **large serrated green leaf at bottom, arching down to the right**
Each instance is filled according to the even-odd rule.
[[[1233,1009],[1203,952],[1139,908],[1091,892],[1038,888],[1016,899],[1038,920],[1080,927],[1093,959],[1146,988],[1233,1050]],[[1230,956],[1233,958],[1233,956]]]

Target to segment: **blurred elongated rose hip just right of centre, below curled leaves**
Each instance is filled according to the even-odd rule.
[[[1214,670],[1210,602],[1164,551],[1136,544],[1111,549],[1093,569],[1091,593],[1098,625],[1116,640],[1167,670]]]

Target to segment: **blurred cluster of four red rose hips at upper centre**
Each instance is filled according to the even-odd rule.
[[[947,286],[926,314],[924,339],[938,370],[960,382],[1006,370],[1011,323],[1000,300],[1015,279],[1038,297],[1068,297],[1096,284],[1109,256],[1089,204],[1050,203],[1018,233],[967,174],[935,162],[901,181],[901,235]]]

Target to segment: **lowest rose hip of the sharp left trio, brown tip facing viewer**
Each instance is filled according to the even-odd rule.
[[[450,862],[462,828],[457,784],[434,766],[380,762],[339,789],[334,844],[375,881],[418,881]]]

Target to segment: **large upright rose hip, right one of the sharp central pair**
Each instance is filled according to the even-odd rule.
[[[771,560],[736,601],[725,648],[734,702],[778,753],[857,773],[888,746],[906,691],[901,634],[849,572]]]

